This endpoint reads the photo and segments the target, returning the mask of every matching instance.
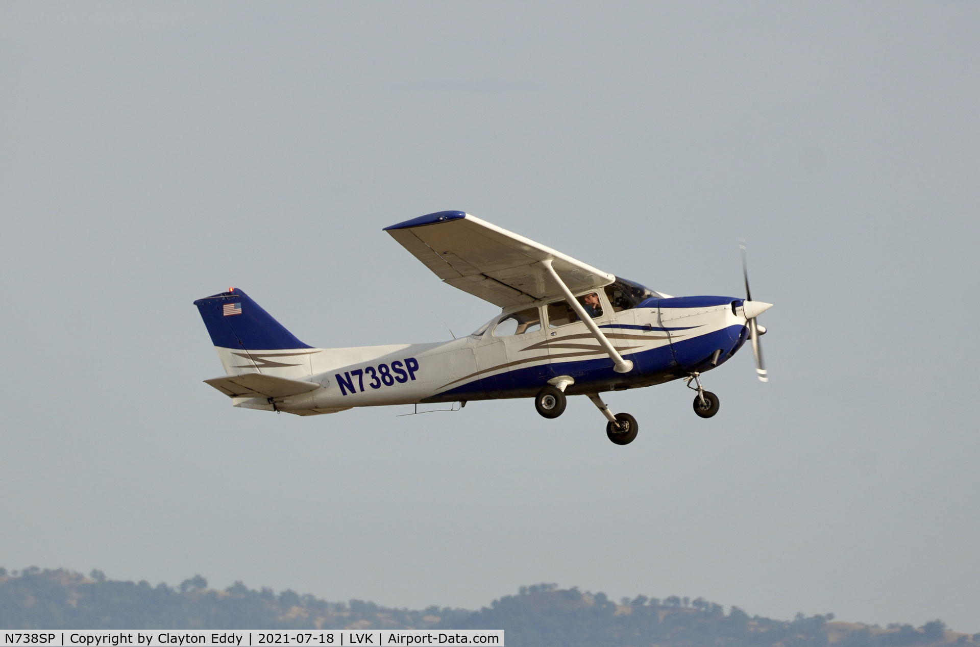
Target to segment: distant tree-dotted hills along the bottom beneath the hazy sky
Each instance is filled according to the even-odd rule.
[[[371,602],[326,602],[312,595],[236,582],[223,591],[197,575],[177,587],[151,586],[81,573],[0,569],[0,628],[502,628],[508,644],[526,647],[938,647],[980,646],[980,633],[947,630],[944,622],[882,628],[833,622],[833,615],[793,621],[728,614],[698,598],[638,596],[614,603],[604,593],[553,584],[521,587],[479,611],[387,609]]]

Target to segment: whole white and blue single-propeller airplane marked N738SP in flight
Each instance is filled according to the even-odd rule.
[[[711,418],[718,397],[701,376],[748,340],[761,381],[757,318],[772,304],[753,301],[742,245],[746,298],[673,297],[598,270],[462,211],[441,211],[385,227],[445,283],[502,310],[451,341],[314,348],[238,288],[194,305],[225,375],[204,380],[235,407],[316,416],[354,407],[534,398],[547,419],[568,395],[585,395],[606,418],[613,443],[639,427],[600,396],[682,379],[694,412]]]

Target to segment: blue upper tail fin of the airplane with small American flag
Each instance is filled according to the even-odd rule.
[[[280,350],[312,348],[276,322],[238,288],[194,302],[208,326],[211,340],[221,348]]]

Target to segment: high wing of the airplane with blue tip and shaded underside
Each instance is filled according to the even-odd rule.
[[[563,294],[552,265],[572,292],[612,283],[613,274],[576,261],[462,211],[441,211],[392,224],[385,231],[446,283],[507,308]]]

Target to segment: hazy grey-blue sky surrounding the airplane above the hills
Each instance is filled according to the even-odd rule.
[[[0,4],[0,564],[475,608],[539,581],[980,631],[980,4]],[[464,210],[739,296],[771,381],[301,419],[191,302],[316,346],[494,315],[381,231]]]

